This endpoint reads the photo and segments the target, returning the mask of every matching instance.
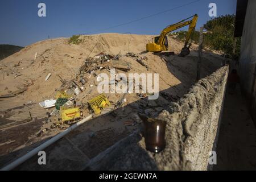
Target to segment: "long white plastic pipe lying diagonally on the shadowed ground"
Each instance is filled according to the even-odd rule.
[[[76,127],[82,125],[82,123],[88,121],[91,118],[92,118],[92,115],[90,114],[88,117],[82,119],[80,122],[75,123],[74,125],[72,125],[68,129],[66,129],[63,132],[61,132],[60,134],[57,134],[55,137],[49,139],[48,141],[44,142],[40,146],[36,147],[34,150],[28,152],[26,155],[23,155],[22,157],[20,157],[19,159],[15,160],[11,164],[8,164],[6,167],[0,169],[0,171],[10,171],[11,169],[14,169],[15,167],[17,167],[20,164],[22,164],[23,162],[25,162],[26,160],[30,159],[32,156],[38,154],[39,151],[44,150],[44,148],[46,148],[49,145],[51,145],[52,143],[56,142],[60,138],[64,137],[65,135],[70,133],[72,130],[75,130]]]

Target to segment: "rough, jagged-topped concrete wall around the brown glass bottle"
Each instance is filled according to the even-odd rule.
[[[225,66],[201,79],[159,114],[158,119],[167,121],[167,145],[162,152],[148,152],[137,132],[96,156],[85,169],[206,170],[217,141],[228,71]]]

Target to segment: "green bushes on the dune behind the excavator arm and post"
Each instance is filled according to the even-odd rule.
[[[222,51],[234,59],[240,56],[241,38],[234,38],[234,21],[235,15],[219,16],[209,20],[204,25],[204,46],[210,47],[217,51]],[[179,31],[171,34],[175,39],[183,41],[187,31]],[[199,43],[199,31],[195,31],[191,40]],[[235,44],[235,52],[233,52]]]

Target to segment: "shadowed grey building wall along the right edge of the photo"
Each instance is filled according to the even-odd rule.
[[[240,77],[243,93],[252,101],[256,121],[256,84],[254,83],[254,73],[256,66],[256,1],[249,0],[247,4],[245,23],[243,25],[243,34],[241,40],[241,57],[240,57]],[[254,89],[254,91],[253,91]]]

